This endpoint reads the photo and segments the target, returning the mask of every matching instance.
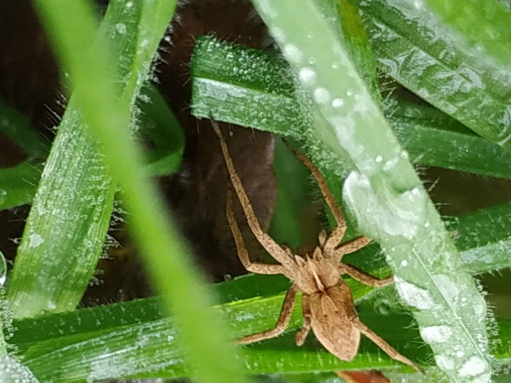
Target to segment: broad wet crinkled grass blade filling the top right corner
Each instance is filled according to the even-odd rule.
[[[359,1],[380,66],[430,104],[509,151],[511,70],[486,56],[484,50],[469,46],[428,7],[417,4],[418,8],[406,0]],[[509,13],[504,13],[496,17],[508,19]],[[482,17],[479,12],[474,16]],[[468,26],[481,31],[473,23]],[[498,49],[508,47],[507,41]]]

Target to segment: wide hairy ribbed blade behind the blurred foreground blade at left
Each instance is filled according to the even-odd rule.
[[[123,2],[113,2],[100,28],[114,42],[130,44],[127,36],[136,36],[132,29],[140,12],[138,6],[125,12]],[[134,53],[121,56],[117,67],[121,80],[129,73],[129,54]],[[103,251],[115,189],[72,99],[45,162],[10,276],[14,317],[76,307]]]

